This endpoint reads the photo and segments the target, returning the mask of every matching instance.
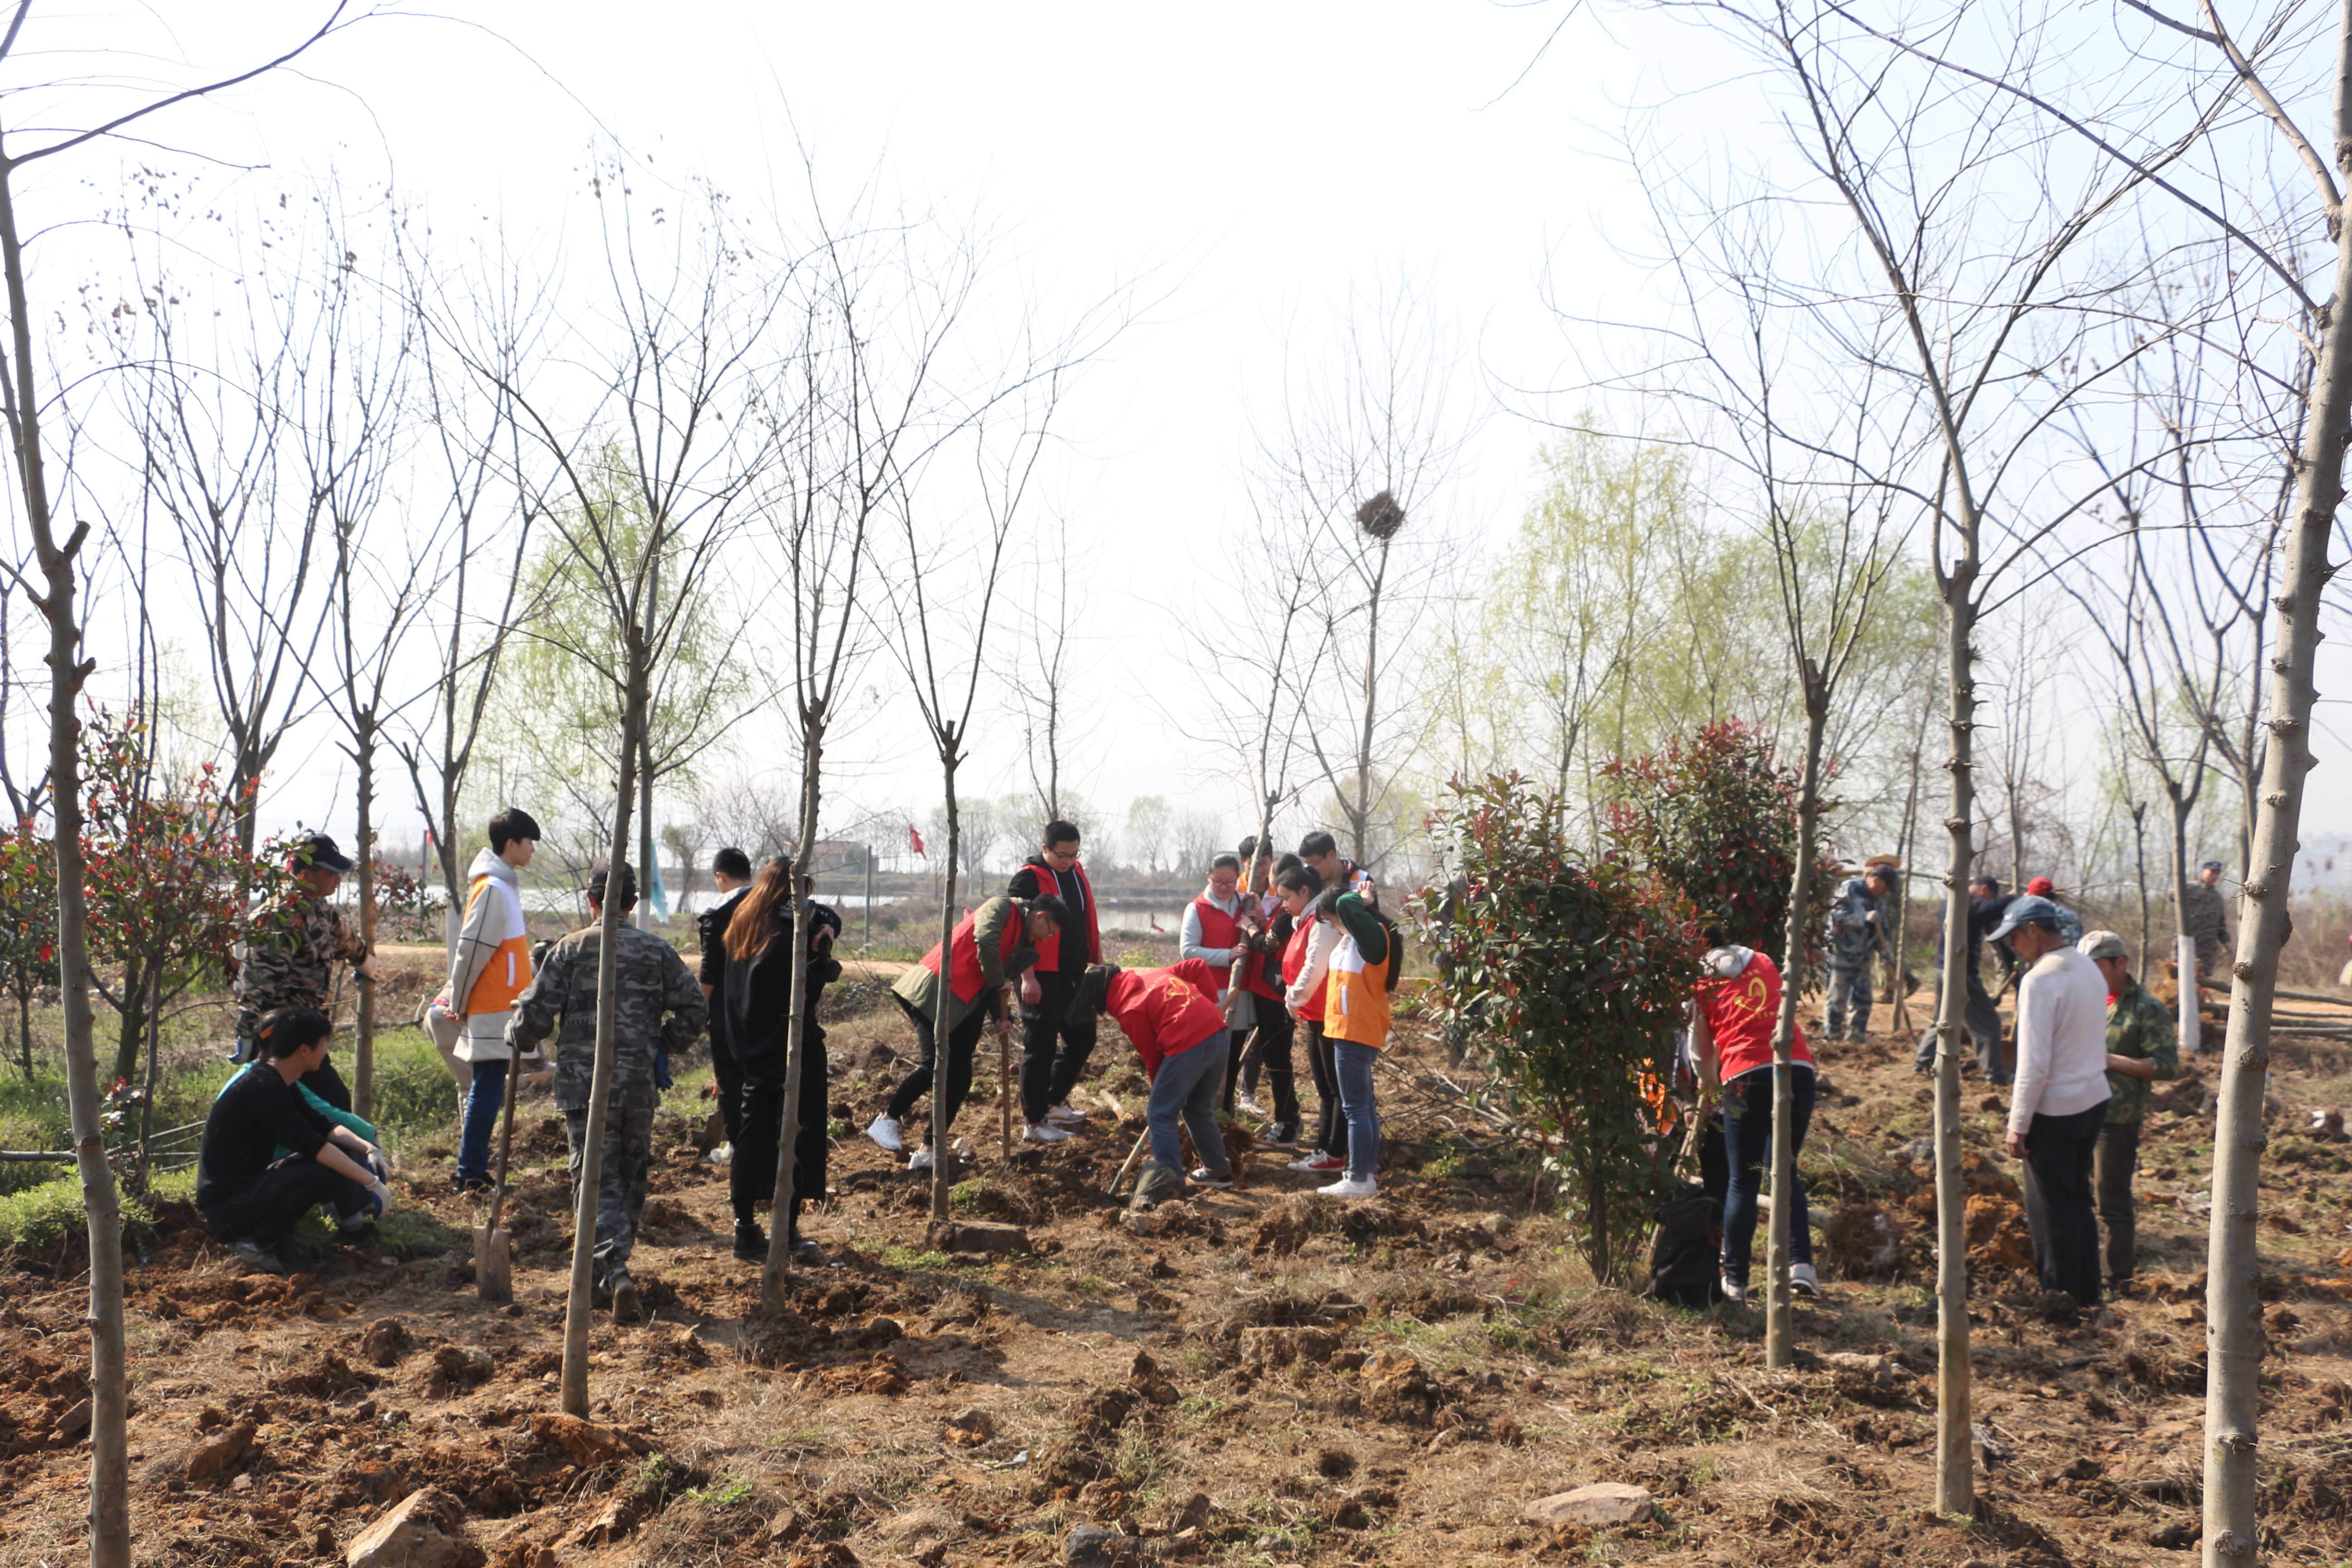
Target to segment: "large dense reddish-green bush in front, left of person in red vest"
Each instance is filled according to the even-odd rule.
[[[1456,867],[1437,1016],[1479,1032],[1550,1143],[1578,1251],[1602,1284],[1639,1262],[1668,1194],[1679,1107],[1656,1067],[1698,983],[1689,903],[1646,872],[1588,863],[1559,799],[1510,773],[1449,785],[1430,827]]]

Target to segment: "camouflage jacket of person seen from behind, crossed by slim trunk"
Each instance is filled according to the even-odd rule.
[[[532,983],[515,997],[506,1020],[506,1044],[532,1053],[555,1034],[555,1105],[588,1110],[595,1081],[595,980],[602,931],[583,926],[548,947]],[[710,1004],[677,950],[652,931],[621,924],[619,985],[612,1032],[612,1105],[647,1110],[661,1100],[654,1088],[654,1051],[684,1051]]]

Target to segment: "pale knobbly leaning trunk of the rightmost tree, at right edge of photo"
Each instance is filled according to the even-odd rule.
[[[2336,162],[2352,179],[2352,0],[2336,19]],[[2352,223],[2336,214],[2333,308],[2352,308]],[[2333,322],[2319,346],[2310,416],[2296,458],[2286,569],[2279,576],[2279,642],[2270,682],[2270,741],[2253,856],[2237,910],[2230,971],[2230,1034],[2223,1046],[2220,1107],[2213,1126],[2213,1218],[2206,1253],[2206,1467],[2204,1561],[2253,1561],[2256,1401],[2263,1361],[2263,1302],[2256,1298],[2256,1218],[2263,1175],[2263,1081],[2270,1070],[2270,1009],[2286,945],[2286,893],[2303,823],[2303,778],[2312,769],[2312,668],[2319,656],[2319,595],[2328,531],[2343,503],[2343,442],[2352,418],[2352,343]]]

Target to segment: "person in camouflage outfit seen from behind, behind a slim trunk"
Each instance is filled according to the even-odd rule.
[[[515,997],[506,1044],[532,1053],[555,1034],[555,1107],[572,1143],[572,1199],[588,1157],[588,1095],[595,1086],[597,966],[607,891],[621,912],[614,954],[612,1086],[604,1103],[604,1168],[595,1206],[595,1293],[614,1319],[640,1316],[628,1258],[637,1246],[644,1180],[654,1164],[654,1053],[684,1051],[710,1016],[703,987],[677,950],[628,924],[637,877],[597,865],[588,872],[588,924],[548,947],[548,961]]]

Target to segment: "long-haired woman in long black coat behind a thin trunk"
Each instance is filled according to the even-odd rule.
[[[842,961],[833,957],[842,917],[816,900],[809,900],[804,914],[804,922],[793,919],[793,863],[776,856],[736,903],[722,938],[727,990],[720,1013],[743,1074],[739,1143],[727,1166],[727,1197],[736,1218],[734,1255],[743,1262],[767,1260],[767,1232],[760,1229],[755,1208],[776,1197],[795,964],[804,964],[807,976],[800,1016],[800,1135],[793,1140],[793,1213],[783,1218],[783,1234],[795,1258],[816,1258],[816,1244],[800,1237],[800,1208],[826,1194],[826,1032],[816,1023],[816,999],[842,978]],[[795,924],[804,924],[807,933],[795,931]],[[715,1039],[720,1016],[710,1023]]]

